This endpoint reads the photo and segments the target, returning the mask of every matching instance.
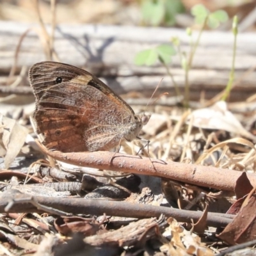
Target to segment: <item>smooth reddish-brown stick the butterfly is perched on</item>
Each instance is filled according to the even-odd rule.
[[[114,156],[113,152],[61,153],[49,152],[46,148],[42,148],[42,150],[54,159],[78,166],[163,177],[227,191],[234,191],[236,180],[241,175],[241,172],[211,166],[175,163],[118,153]],[[255,187],[256,175],[254,173],[246,174],[252,186]]]

